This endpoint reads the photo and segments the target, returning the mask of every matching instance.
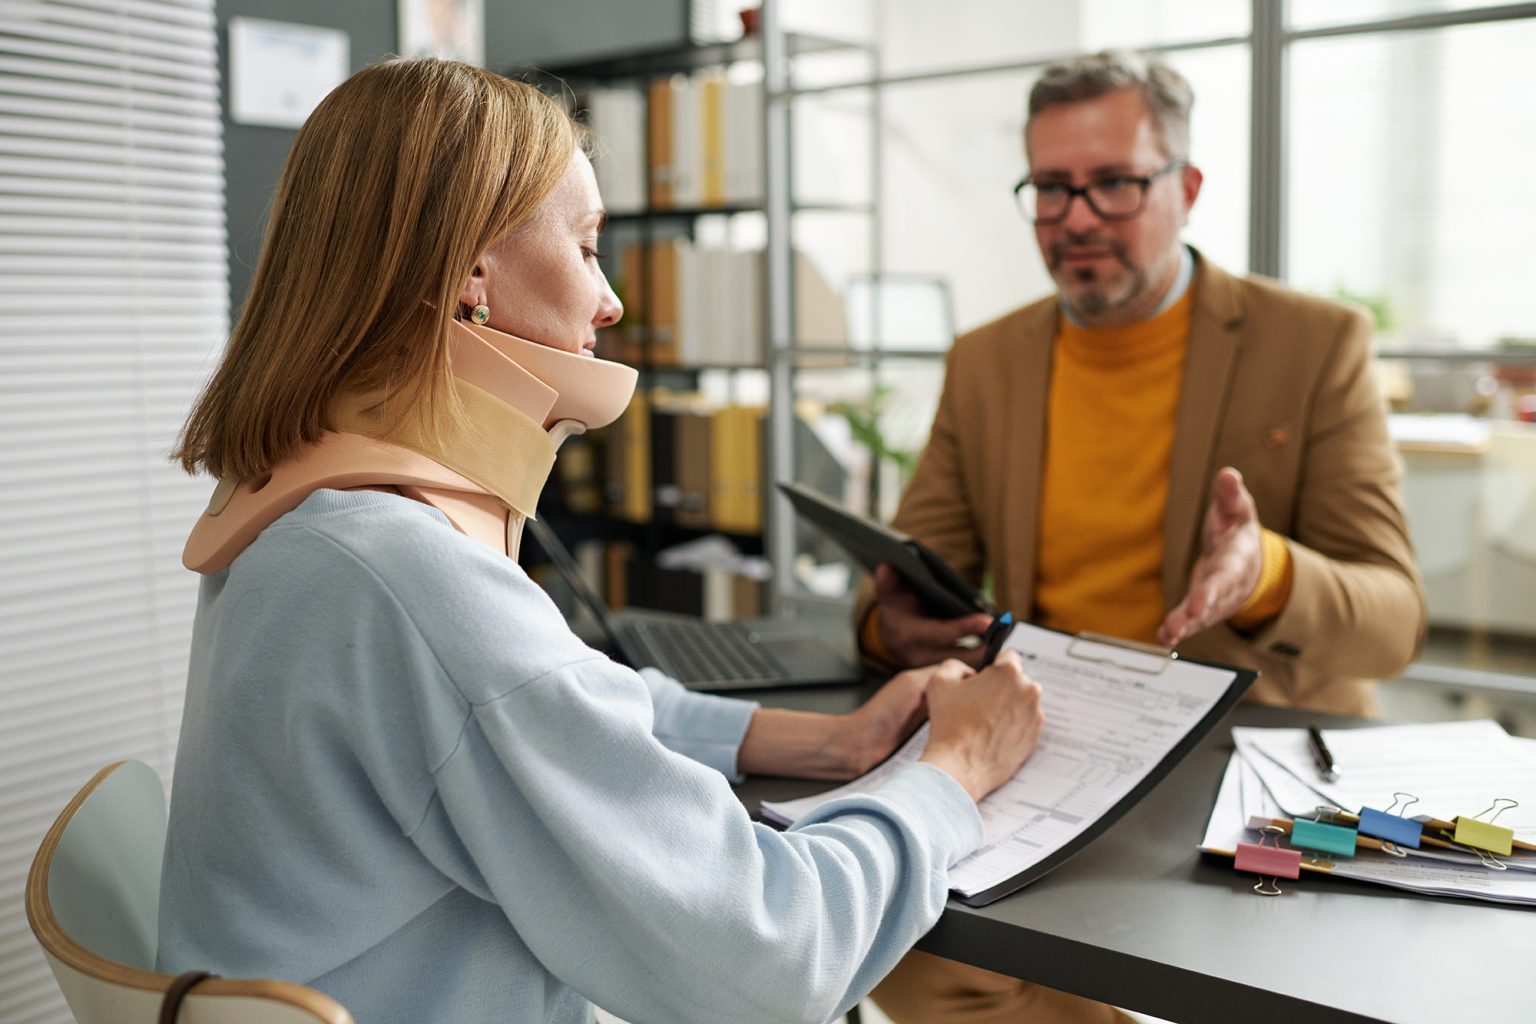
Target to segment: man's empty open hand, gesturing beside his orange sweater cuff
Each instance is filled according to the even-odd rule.
[[[1264,567],[1258,510],[1232,467],[1217,473],[1210,485],[1210,508],[1201,528],[1200,559],[1189,577],[1189,593],[1167,613],[1157,631],[1163,646],[1226,622],[1258,585]]]

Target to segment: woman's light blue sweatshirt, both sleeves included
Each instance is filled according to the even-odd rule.
[[[826,1021],[934,924],[980,817],[914,765],[754,824],[753,709],[587,648],[436,510],[316,491],[203,580],[158,966],[359,1024]]]

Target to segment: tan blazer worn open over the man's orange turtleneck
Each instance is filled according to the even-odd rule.
[[[1295,585],[1258,634],[1221,625],[1180,651],[1260,669],[1252,700],[1375,714],[1369,680],[1415,657],[1425,602],[1370,324],[1273,281],[1235,278],[1204,259],[1197,267],[1163,525],[1164,608],[1184,597],[1223,465],[1241,470],[1260,522],[1289,537]],[[998,606],[1025,620],[1058,315],[1048,298],[955,341],[894,520],[972,582],[989,576]],[[868,602],[866,588],[857,622]]]

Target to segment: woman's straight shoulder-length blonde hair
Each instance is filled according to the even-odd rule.
[[[456,61],[387,60],[336,86],[293,140],[250,298],[170,457],[260,476],[346,393],[379,395],[386,422],[461,425],[458,295],[587,144],[533,86]]]

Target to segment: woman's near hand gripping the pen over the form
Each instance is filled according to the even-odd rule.
[[[974,676],[946,671],[949,665],[958,663],[940,665],[928,688],[932,725],[922,760],[980,801],[1012,778],[1040,742],[1040,683],[1025,676],[1012,651]]]

